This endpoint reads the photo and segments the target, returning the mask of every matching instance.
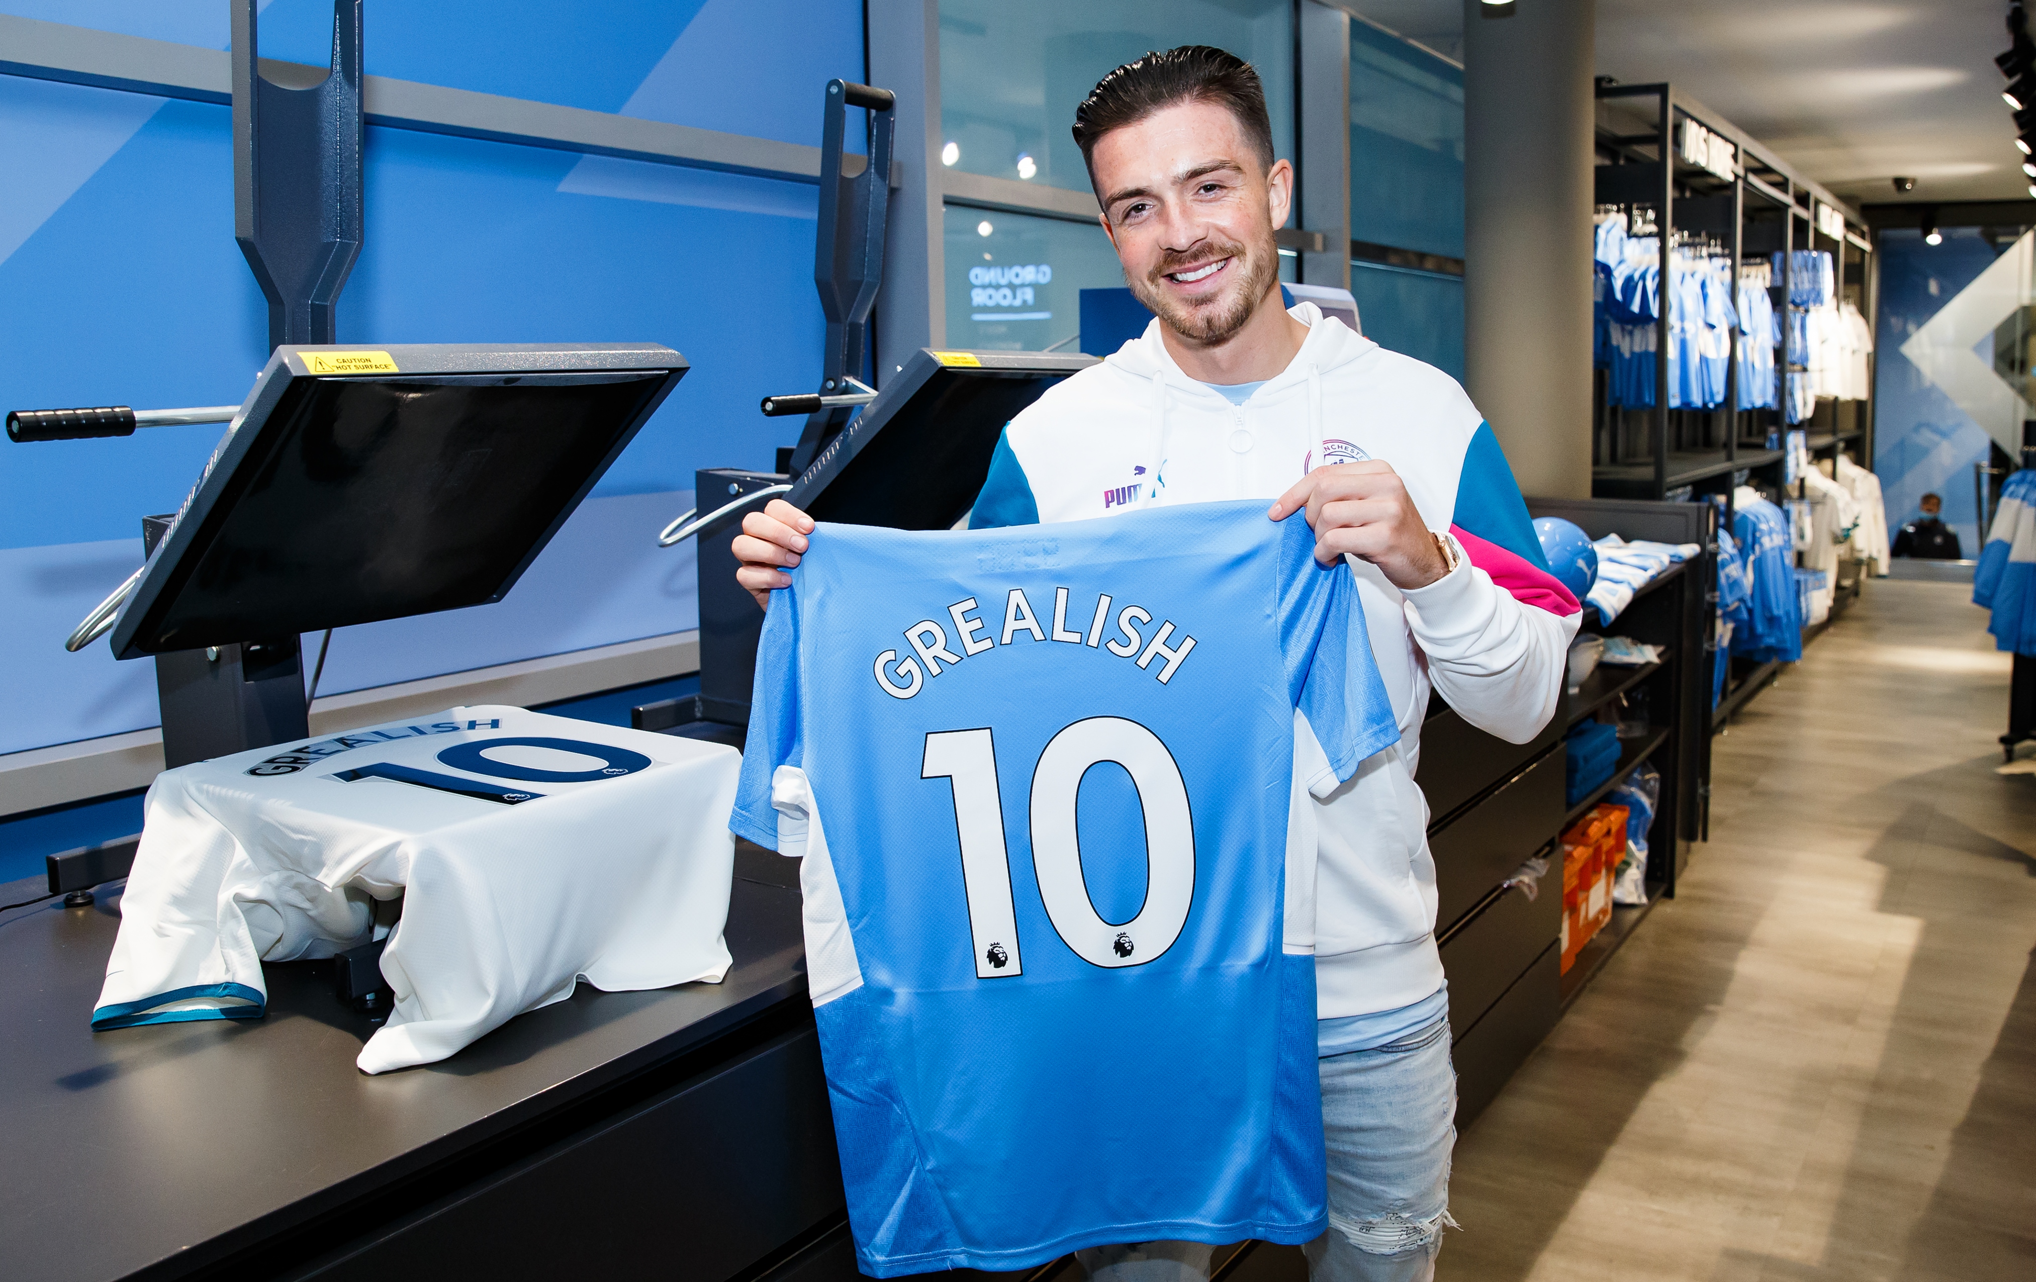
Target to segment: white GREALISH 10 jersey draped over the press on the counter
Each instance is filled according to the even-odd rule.
[[[364,1072],[442,1060],[578,979],[719,981],[739,769],[711,743],[483,706],[163,771],[92,1026],[261,1017],[265,960],[366,944],[399,895]]]

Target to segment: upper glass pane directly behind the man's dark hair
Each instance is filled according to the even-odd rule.
[[[941,161],[1087,191],[1075,108],[1112,69],[1175,45],[1215,45],[1258,67],[1272,149],[1293,157],[1291,0],[941,0]]]

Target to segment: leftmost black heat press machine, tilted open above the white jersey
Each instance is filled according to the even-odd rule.
[[[301,633],[501,600],[686,372],[658,344],[338,346],[362,242],[360,0],[334,2],[324,77],[259,59],[257,8],[234,0],[230,55],[234,240],[273,350],[252,391],[6,415],[16,444],[228,425],[183,507],[143,517],[147,564],[65,641],[155,659],[169,767],[309,735]],[[53,855],[49,889],[90,901],[134,840]]]

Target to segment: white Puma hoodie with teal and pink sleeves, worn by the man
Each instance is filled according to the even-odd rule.
[[[1378,458],[1427,527],[1456,539],[1456,570],[1413,592],[1350,562],[1401,741],[1309,808],[1317,1015],[1336,1019],[1441,987],[1427,800],[1413,781],[1429,688],[1474,726],[1533,739],[1562,698],[1578,604],[1549,576],[1513,472],[1464,389],[1313,303],[1291,315],[1309,326],[1307,342],[1244,405],[1183,374],[1152,322],[1010,421],[969,525],[1270,503],[1315,466]],[[1297,755],[1321,751],[1299,739]]]

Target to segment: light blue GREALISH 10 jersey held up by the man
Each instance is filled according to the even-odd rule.
[[[731,826],[804,857],[861,1270],[1321,1233],[1301,790],[1399,739],[1350,572],[1252,501],[821,525],[792,580]]]

